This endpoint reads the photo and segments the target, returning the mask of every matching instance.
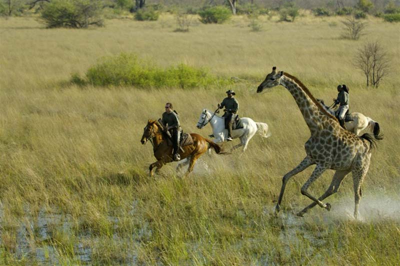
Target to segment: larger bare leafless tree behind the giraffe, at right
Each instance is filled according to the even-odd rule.
[[[377,88],[382,78],[391,70],[387,52],[377,41],[358,49],[353,64],[364,73],[367,87],[371,85]]]

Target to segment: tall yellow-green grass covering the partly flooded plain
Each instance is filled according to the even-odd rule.
[[[395,24],[368,18],[368,35],[346,41],[340,18],[245,17],[226,25],[195,23],[175,33],[175,20],[109,20],[92,30],[49,30],[32,18],[0,21],[0,263],[1,264],[315,264],[392,265],[399,260],[400,198],[397,142],[400,85]],[[393,74],[365,88],[351,64],[357,48],[378,39]],[[207,90],[70,85],[99,58],[134,53],[162,69],[183,63],[218,77],[239,77]],[[256,94],[272,66],[299,78],[325,102],[337,84],[350,87],[350,109],[378,121],[385,139],[372,153],[363,183],[361,220],[352,219],[351,177],[326,200],[300,187],[312,167],[289,181],[278,218],[272,215],[282,176],[304,157],[309,131],[282,87]],[[148,177],[152,147],[139,140],[147,119],[172,102],[187,132],[203,108],[234,89],[239,114],[265,122],[271,137],[254,136],[247,151],[203,155],[188,178],[176,163]],[[226,149],[235,145],[226,143]],[[311,186],[320,195],[332,171]],[[46,224],[46,225],[44,225]],[[39,252],[40,251],[40,252]]]

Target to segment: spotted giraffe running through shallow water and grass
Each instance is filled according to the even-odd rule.
[[[317,204],[329,211],[331,205],[323,203],[322,200],[336,193],[341,181],[351,172],[355,203],[354,218],[357,219],[361,184],[368,171],[371,150],[375,146],[375,140],[381,140],[383,136],[373,137],[370,134],[363,134],[358,137],[343,129],[337,119],[315,100],[309,90],[297,78],[283,73],[283,71],[276,72],[275,70],[276,67],[273,67],[272,72],[258,86],[257,93],[278,85],[285,87],[296,101],[311,133],[311,137],[304,144],[305,158],[282,178],[282,186],[274,209],[275,214],[279,212],[287,181],[293,175],[315,164],[311,176],[301,187],[301,194],[307,196],[313,202],[298,212],[297,215],[303,216],[305,212]],[[327,169],[335,170],[332,181],[328,189],[319,198],[316,198],[308,192],[308,187]]]

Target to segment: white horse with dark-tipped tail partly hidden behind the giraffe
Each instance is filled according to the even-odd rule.
[[[317,101],[326,109],[326,111],[335,116],[335,111],[326,106],[323,100],[317,99]],[[351,115],[353,116],[353,121],[347,121],[344,123],[344,126],[348,131],[358,136],[362,130],[367,128],[375,137],[379,135],[380,128],[378,122],[373,121],[371,118],[364,116],[361,113],[351,113]]]

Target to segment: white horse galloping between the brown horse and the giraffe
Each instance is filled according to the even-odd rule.
[[[268,125],[265,123],[254,122],[254,120],[248,117],[242,117],[241,121],[243,123],[243,128],[232,130],[232,138],[240,139],[240,143],[233,146],[232,149],[243,146],[243,151],[245,151],[247,149],[248,141],[257,131],[264,138],[267,138],[271,135],[268,130]],[[201,129],[208,123],[212,127],[212,134],[214,135],[213,142],[223,142],[227,138],[228,133],[228,130],[225,129],[224,118],[216,115],[216,113],[210,110],[203,109],[196,126],[198,129]]]

